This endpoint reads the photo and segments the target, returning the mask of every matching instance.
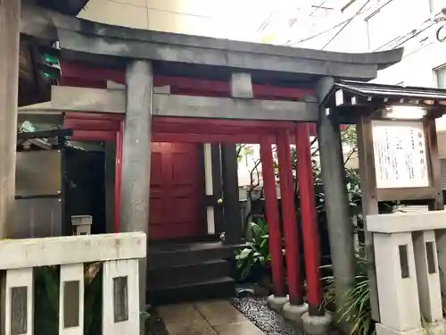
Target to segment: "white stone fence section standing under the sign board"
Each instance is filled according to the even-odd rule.
[[[446,212],[368,215],[367,222],[381,315],[376,334],[422,334],[421,315],[426,328],[443,330],[434,230],[446,227]]]

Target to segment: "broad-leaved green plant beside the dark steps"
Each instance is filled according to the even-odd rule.
[[[246,247],[235,254],[235,266],[239,281],[252,277],[254,272],[268,270],[271,255],[268,249],[268,224],[259,219],[249,225],[252,230],[252,240]]]

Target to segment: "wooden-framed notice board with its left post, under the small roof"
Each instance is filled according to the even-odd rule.
[[[357,125],[364,216],[379,214],[379,201],[427,200],[443,209],[435,120],[370,120]],[[367,228],[367,222],[365,222]],[[365,231],[372,318],[380,320],[372,234]]]

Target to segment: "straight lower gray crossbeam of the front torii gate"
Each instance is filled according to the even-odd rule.
[[[121,89],[53,86],[51,101],[19,113],[125,113]],[[318,121],[318,103],[153,94],[153,115],[233,120]]]

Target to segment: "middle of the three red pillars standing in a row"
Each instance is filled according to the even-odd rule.
[[[294,209],[293,166],[291,164],[290,139],[287,130],[277,134],[277,159],[280,178],[280,196],[285,234],[286,273],[291,305],[302,305],[301,257]]]

